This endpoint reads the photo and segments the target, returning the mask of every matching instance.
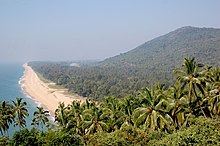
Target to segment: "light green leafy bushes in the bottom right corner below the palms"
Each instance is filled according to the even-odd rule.
[[[188,146],[220,145],[220,122],[204,117],[194,118],[189,127],[172,134],[164,134],[161,139],[149,141],[149,145]]]

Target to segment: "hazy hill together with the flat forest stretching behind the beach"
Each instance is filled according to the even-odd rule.
[[[173,70],[184,58],[220,65],[220,29],[182,27],[102,62],[81,67],[69,63],[31,62],[45,78],[81,96],[125,97],[158,82],[174,82]]]

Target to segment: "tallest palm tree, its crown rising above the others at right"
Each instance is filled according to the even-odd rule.
[[[197,109],[200,109],[202,114],[206,117],[203,110],[203,98],[205,97],[205,76],[199,69],[203,67],[202,64],[197,64],[194,58],[185,58],[183,69],[175,70],[178,74],[178,81],[182,83],[182,88],[188,85],[188,102],[191,110],[197,114]],[[199,96],[198,91],[201,95]],[[206,108],[206,107],[205,107]]]

